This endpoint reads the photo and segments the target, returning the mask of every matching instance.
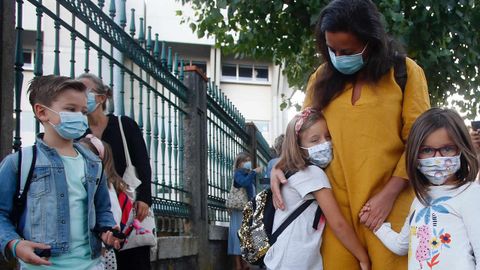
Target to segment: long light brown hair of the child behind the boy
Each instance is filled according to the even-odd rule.
[[[93,143],[88,138],[82,138],[79,141],[84,146],[88,147],[93,153],[99,155],[97,148],[93,145]],[[101,141],[103,147],[105,148],[102,164],[103,164],[103,171],[107,176],[108,183],[113,186],[115,191],[118,193],[125,192],[127,190],[127,185],[123,182],[122,177],[118,175],[117,171],[115,170],[115,163],[113,160],[113,153],[112,148],[110,145],[104,141]]]

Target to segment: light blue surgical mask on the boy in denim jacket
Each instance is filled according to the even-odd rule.
[[[54,125],[50,121],[50,125],[57,131],[58,135],[66,140],[73,140],[79,138],[88,128],[87,116],[81,112],[57,112],[48,107],[50,111],[60,116],[60,123]]]

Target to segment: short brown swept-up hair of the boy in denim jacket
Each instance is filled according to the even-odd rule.
[[[78,92],[86,91],[82,82],[65,76],[47,75],[33,78],[27,90],[33,111],[35,112],[33,106],[37,103],[49,107],[59,95],[68,89]]]

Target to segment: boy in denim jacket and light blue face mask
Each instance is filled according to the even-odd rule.
[[[31,81],[28,92],[45,133],[36,139],[35,168],[25,209],[16,213],[18,227],[11,220],[18,153],[0,164],[0,250],[19,259],[22,269],[102,269],[101,242],[119,249],[120,240],[111,230],[101,232],[115,226],[107,179],[98,177],[101,161],[73,142],[88,126],[85,86],[67,77],[42,76]],[[46,249],[49,258],[34,253]]]

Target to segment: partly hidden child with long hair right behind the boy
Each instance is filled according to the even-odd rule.
[[[111,211],[113,218],[115,219],[115,223],[117,226],[120,226],[122,209],[118,202],[117,194],[125,192],[127,187],[125,182],[123,182],[123,179],[115,171],[112,149],[108,143],[101,141],[92,134],[87,134],[85,138],[80,140],[80,143],[88,147],[102,160],[103,171],[108,179],[108,195],[110,196]],[[105,266],[105,270],[116,270],[117,260],[115,257],[115,252],[112,249],[105,248],[103,248],[102,251],[102,262]]]

